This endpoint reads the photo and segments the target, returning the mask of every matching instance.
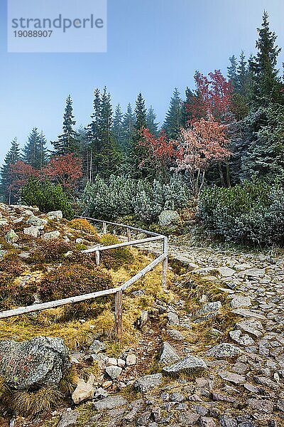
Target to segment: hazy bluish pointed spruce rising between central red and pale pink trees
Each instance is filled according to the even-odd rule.
[[[182,100],[178,88],[175,88],[173,96],[170,99],[170,107],[165,121],[163,123],[163,130],[170,139],[178,138],[180,134],[180,127],[182,126],[183,111],[182,111]]]

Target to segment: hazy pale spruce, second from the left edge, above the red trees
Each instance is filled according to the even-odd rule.
[[[43,132],[38,132],[37,127],[33,127],[28,142],[23,147],[23,162],[31,164],[35,169],[40,169],[47,162],[46,139]]]

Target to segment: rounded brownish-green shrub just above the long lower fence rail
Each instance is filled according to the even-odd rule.
[[[62,265],[50,271],[39,286],[43,301],[83,295],[112,288],[111,275],[90,262]]]

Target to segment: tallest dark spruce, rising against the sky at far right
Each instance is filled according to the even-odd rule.
[[[253,77],[253,105],[259,107],[270,102],[283,102],[282,88],[278,76],[277,58],[281,51],[275,41],[277,36],[269,28],[268,13],[263,14],[261,28],[257,29],[258,53],[251,60],[249,66]]]

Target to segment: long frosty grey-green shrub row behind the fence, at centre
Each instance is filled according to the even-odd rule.
[[[107,182],[97,176],[94,184],[85,187],[81,205],[84,214],[94,218],[136,214],[141,221],[151,223],[165,209],[184,208],[189,198],[190,191],[178,175],[169,184],[124,176],[110,176]]]

